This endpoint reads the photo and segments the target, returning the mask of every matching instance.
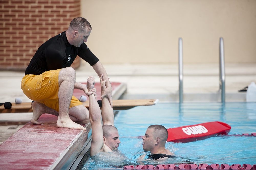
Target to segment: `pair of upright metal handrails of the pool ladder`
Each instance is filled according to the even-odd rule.
[[[183,103],[183,53],[182,38],[179,38],[179,103]],[[224,60],[224,40],[220,37],[220,63],[219,80],[221,90],[221,102],[225,103],[225,60]]]

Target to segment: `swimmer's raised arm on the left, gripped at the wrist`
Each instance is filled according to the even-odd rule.
[[[95,85],[94,77],[87,79],[88,91],[92,91]],[[103,149],[103,132],[101,124],[101,110],[94,94],[89,95],[89,118],[92,126],[91,156],[95,156]]]

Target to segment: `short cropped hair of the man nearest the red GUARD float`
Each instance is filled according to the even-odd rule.
[[[150,125],[148,126],[149,129],[154,130],[154,138],[159,138],[161,143],[164,143],[167,141],[168,138],[168,131],[167,129],[162,125]]]

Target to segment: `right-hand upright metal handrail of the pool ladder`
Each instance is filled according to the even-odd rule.
[[[220,37],[220,89],[221,90],[221,102],[225,103],[225,60],[224,60],[224,40]]]

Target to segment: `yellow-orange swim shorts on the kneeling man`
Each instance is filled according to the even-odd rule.
[[[60,70],[46,71],[40,75],[25,75],[21,81],[23,93],[29,99],[45,104],[45,106],[59,112],[58,80]],[[82,103],[73,96],[69,108],[78,105],[82,105]]]

